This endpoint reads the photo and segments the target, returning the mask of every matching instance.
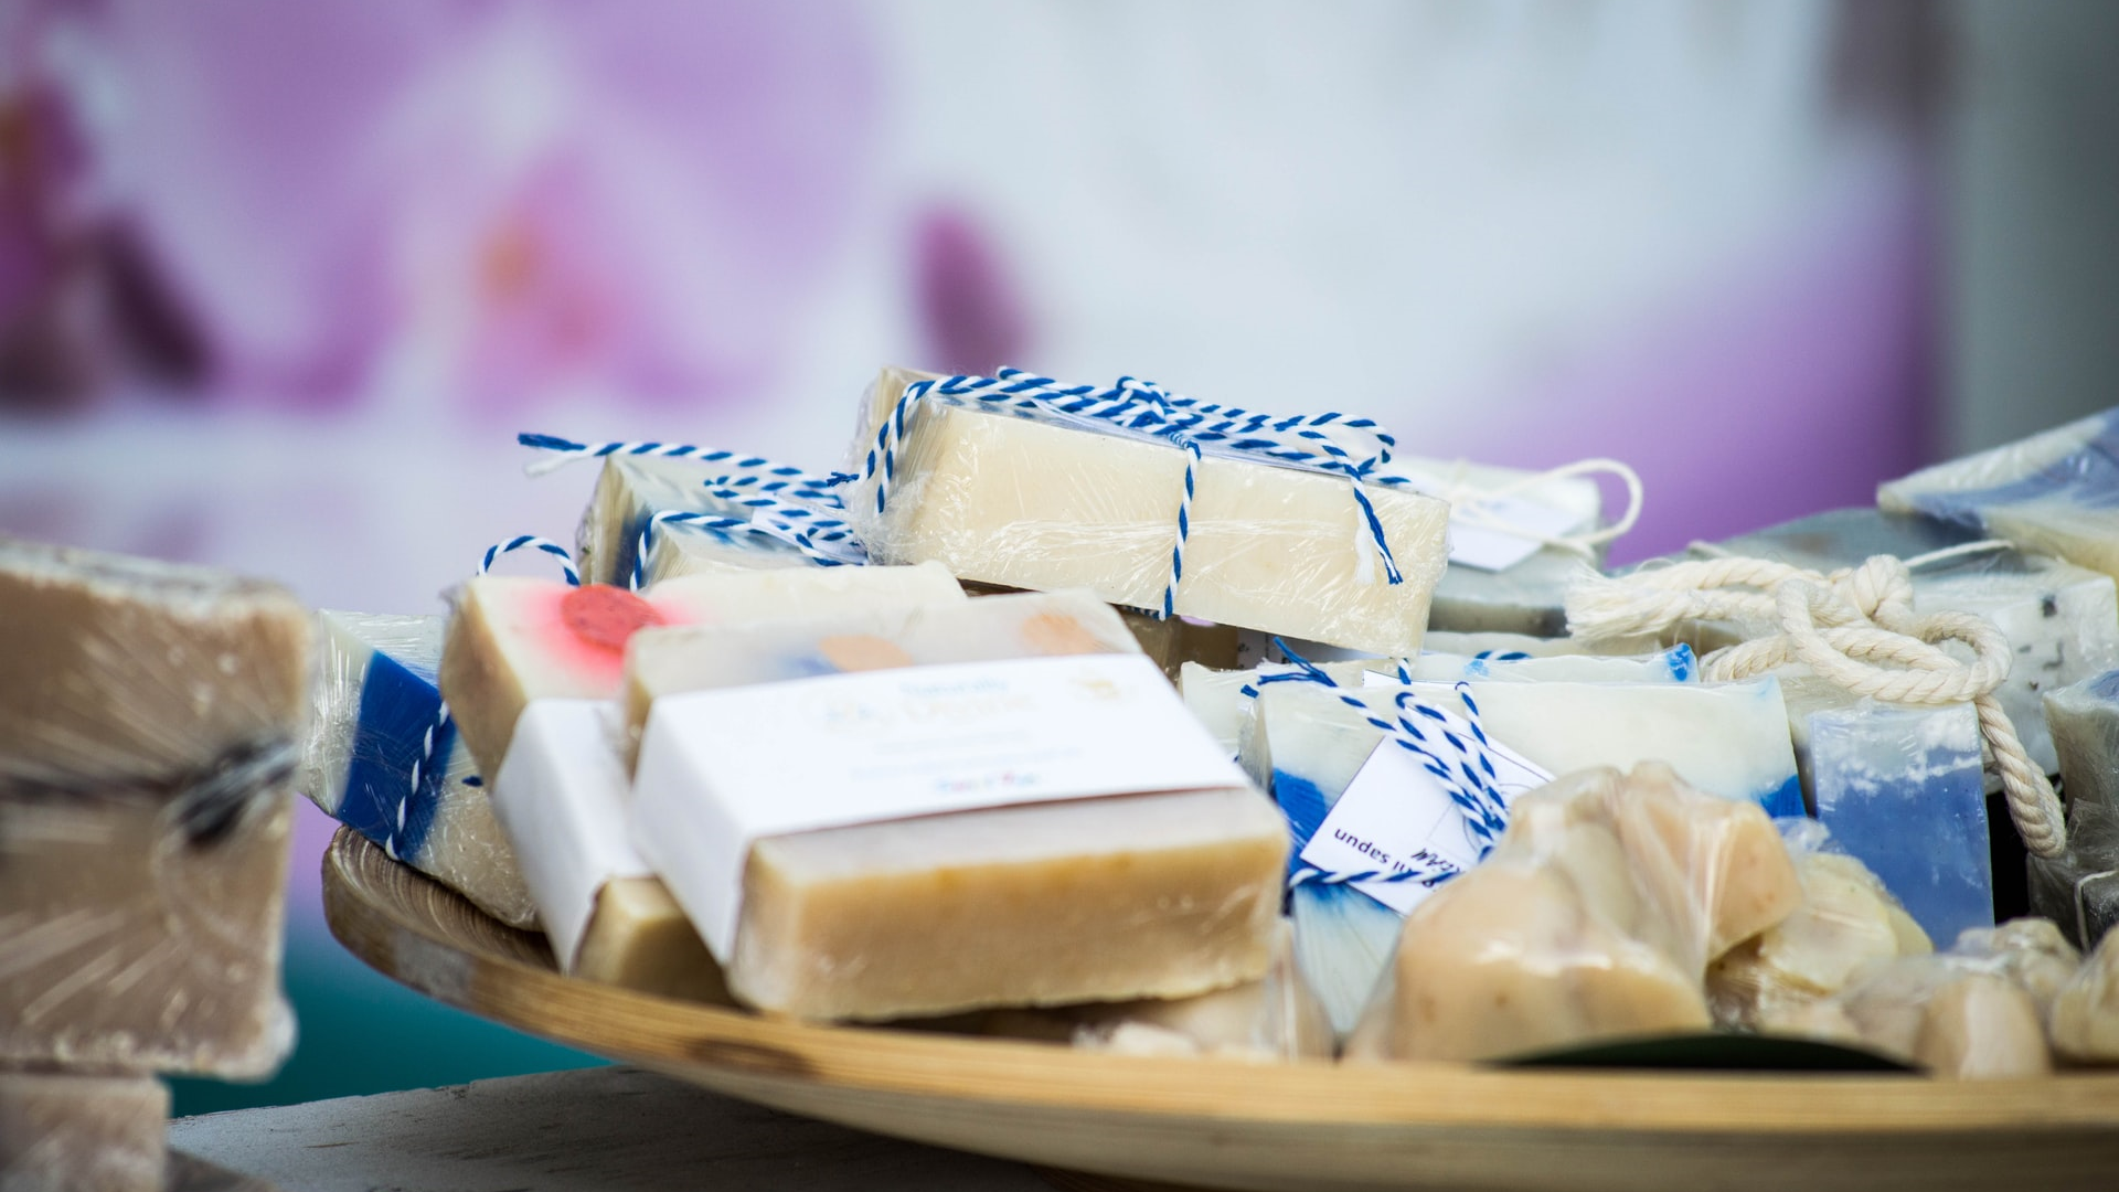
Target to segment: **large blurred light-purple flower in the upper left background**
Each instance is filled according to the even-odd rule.
[[[839,6],[112,0],[89,40],[112,195],[271,401],[756,384],[871,140]]]

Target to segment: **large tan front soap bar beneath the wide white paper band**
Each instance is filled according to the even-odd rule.
[[[708,923],[720,914],[723,889],[701,857],[714,855],[712,823],[727,812],[716,806],[723,793],[699,772],[710,725],[665,719],[672,698],[752,683],[793,689],[790,679],[858,670],[1091,653],[1138,655],[1138,647],[1089,594],[642,634],[627,683],[629,700],[651,708],[634,783],[634,842],[725,961],[729,991],[767,1012],[882,1020],[1191,997],[1259,980],[1280,918],[1286,827],[1244,785],[765,836],[744,857],[742,897],[720,952]],[[937,698],[937,715],[945,715],[956,696]],[[992,694],[977,687],[962,698]],[[1161,679],[1127,698],[1176,702]],[[852,700],[839,715],[875,715],[867,706]],[[1201,736],[1187,749],[1210,755],[1212,747]],[[888,770],[886,759],[877,768]],[[1115,923],[1125,929],[1112,931]]]

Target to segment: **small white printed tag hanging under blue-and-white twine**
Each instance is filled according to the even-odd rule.
[[[1365,685],[1396,687],[1399,683],[1371,670]],[[1424,687],[1422,696],[1428,696],[1428,704],[1443,713],[1452,732],[1471,736],[1471,723],[1445,706],[1445,700],[1456,698],[1449,685],[1422,683],[1418,687]],[[1435,691],[1426,687],[1435,687]],[[1515,795],[1553,781],[1551,774],[1504,744],[1490,740],[1488,749],[1494,757],[1494,789],[1500,793],[1502,806],[1511,806]],[[1360,764],[1339,802],[1324,814],[1324,823],[1303,846],[1301,859],[1305,865],[1335,874],[1367,870],[1399,874],[1435,867],[1462,874],[1479,863],[1479,840],[1471,834],[1456,802],[1449,800],[1443,781],[1426,770],[1424,759],[1396,740],[1384,738]],[[1399,914],[1413,910],[1435,891],[1432,884],[1420,880],[1350,884]]]

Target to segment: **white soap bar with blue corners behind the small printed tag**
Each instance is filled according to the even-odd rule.
[[[1468,691],[1490,740],[1553,774],[1670,759],[1727,800],[1780,810],[1797,797],[1786,713],[1771,679],[1719,687],[1477,681]],[[1297,851],[1384,744],[1369,717],[1390,717],[1392,698],[1394,687],[1261,687],[1244,768],[1254,781],[1269,778]],[[1346,1031],[1396,946],[1399,914],[1348,884],[1297,887],[1290,912],[1303,974]]]

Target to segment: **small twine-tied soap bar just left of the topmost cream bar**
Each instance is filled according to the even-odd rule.
[[[727,467],[695,458],[670,456],[604,456],[595,492],[581,511],[574,537],[585,583],[627,588],[640,556],[640,532],[655,513],[710,513],[750,520],[752,509],[708,492],[710,479],[727,475]],[[809,503],[803,503],[809,505]],[[818,507],[820,515],[837,509]],[[648,541],[642,585],[680,575],[725,575],[731,571],[769,571],[816,566],[793,543],[756,532],[710,530],[695,522],[663,522]]]

